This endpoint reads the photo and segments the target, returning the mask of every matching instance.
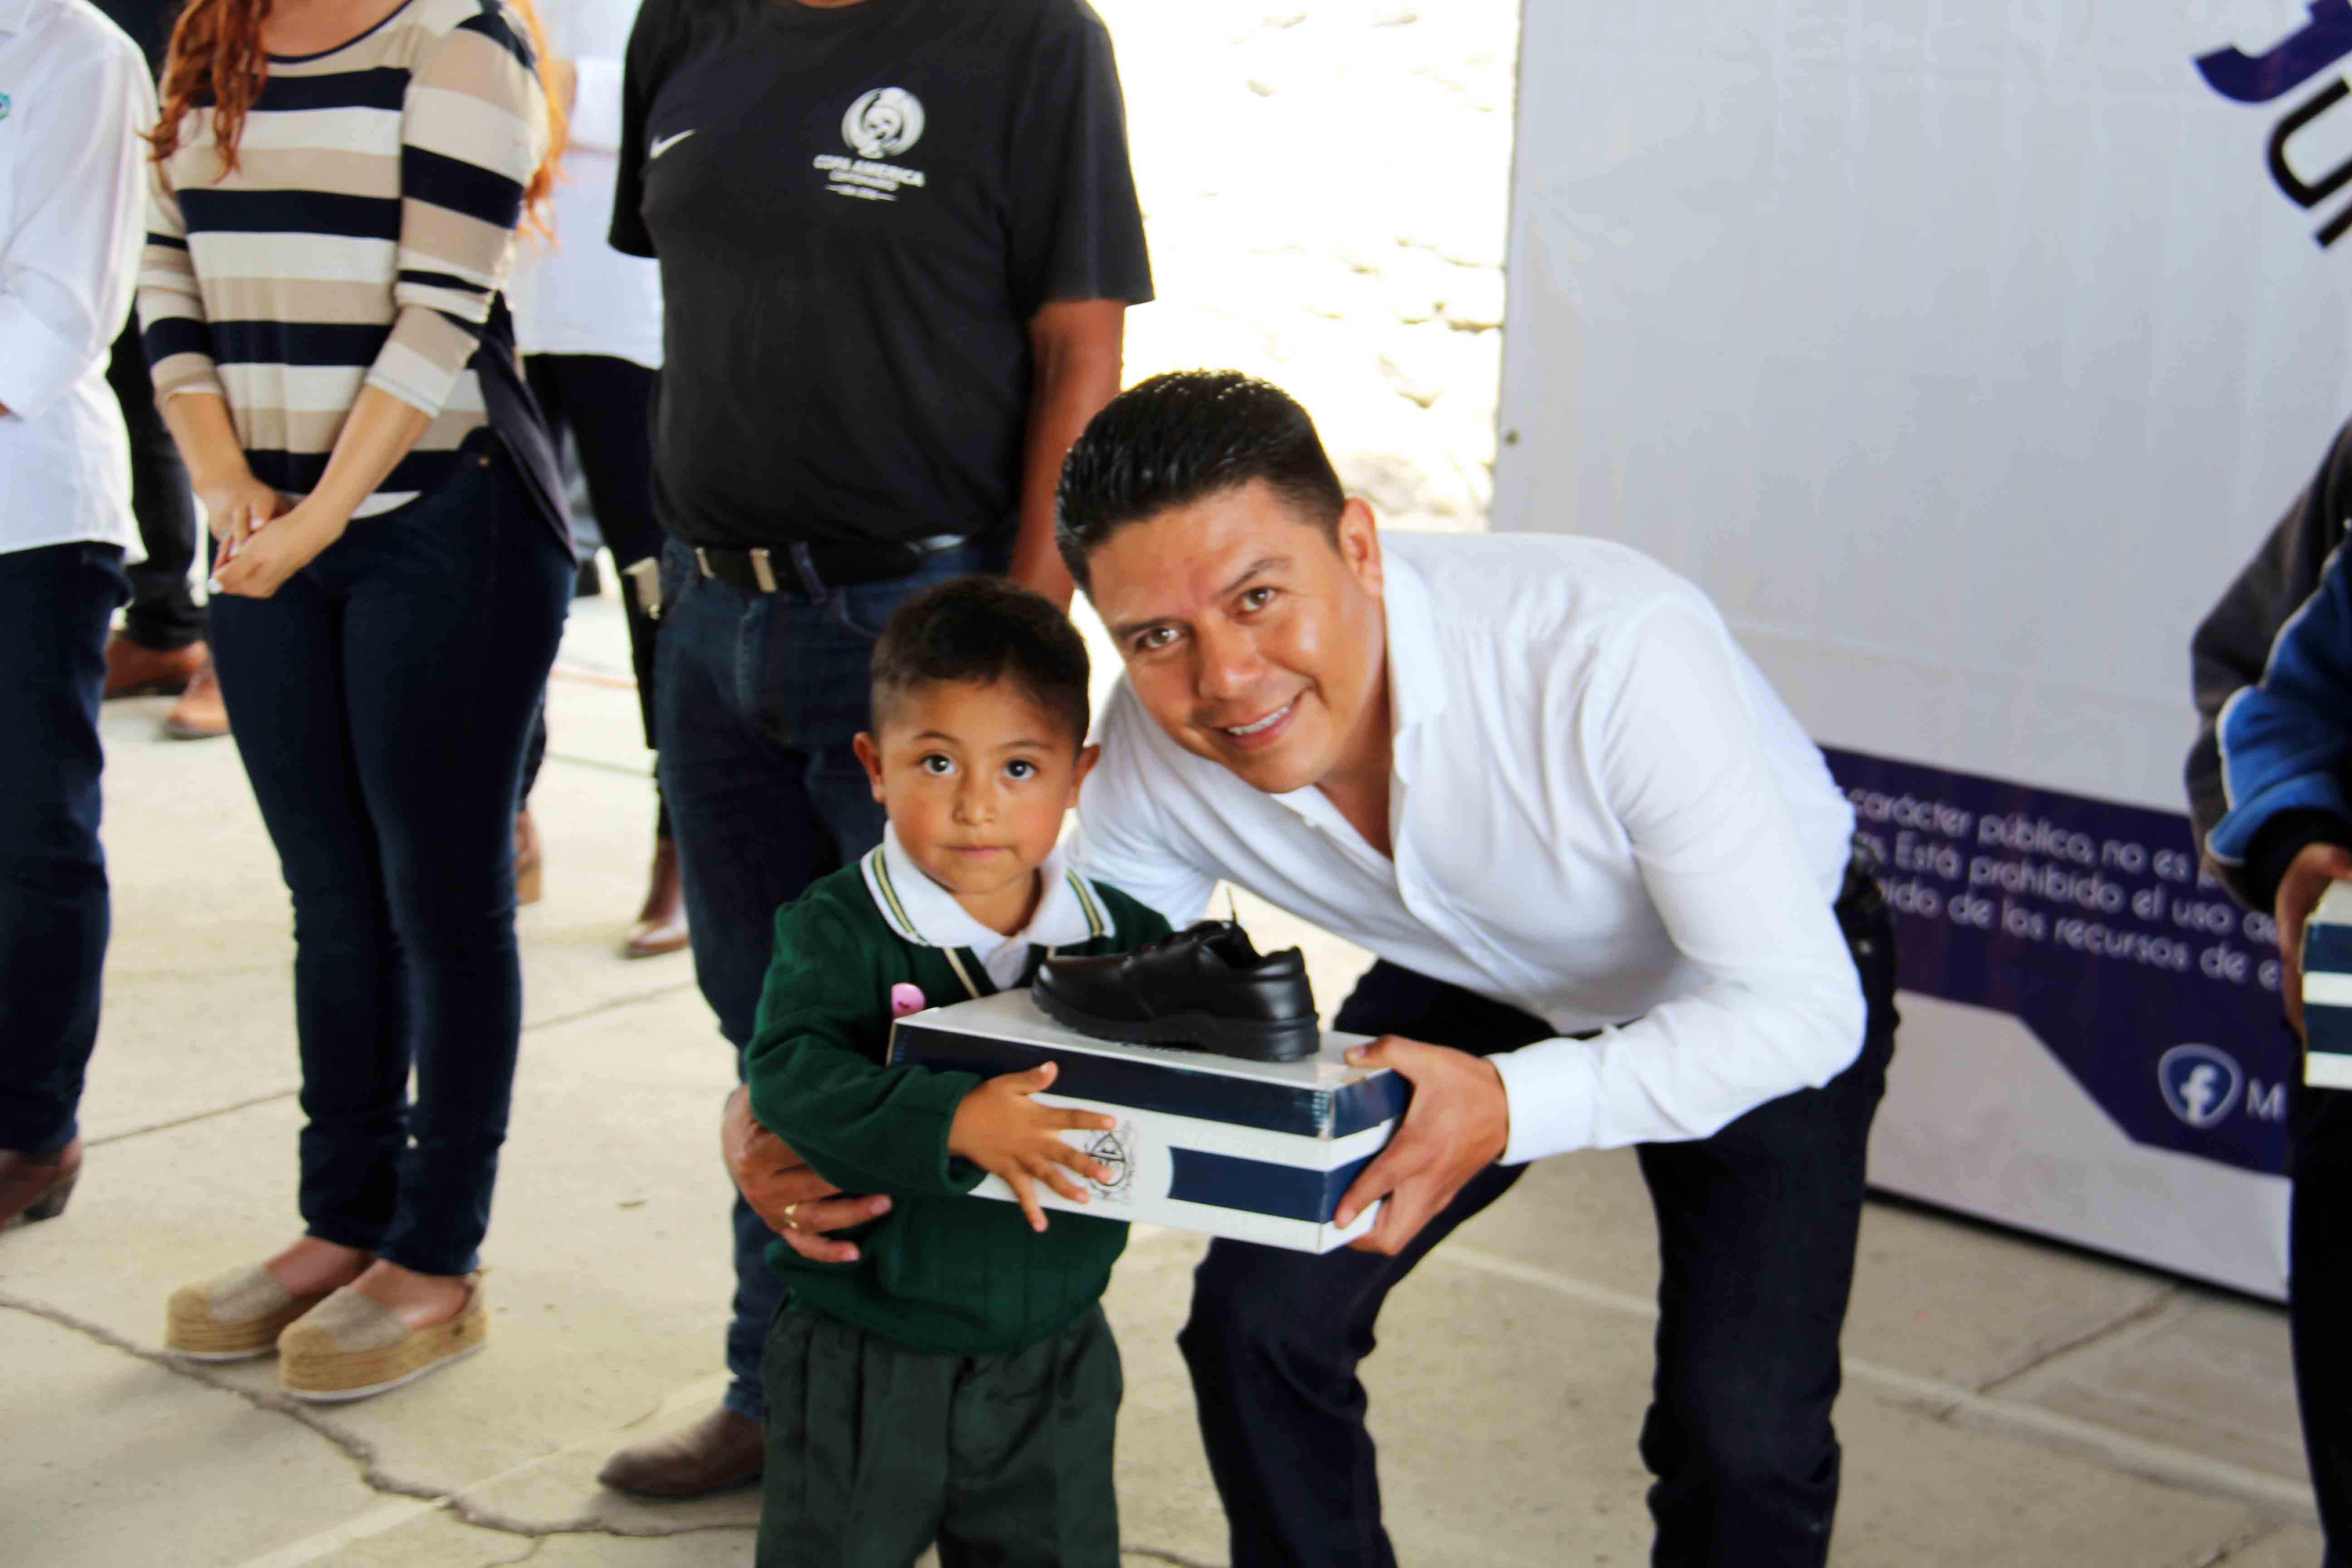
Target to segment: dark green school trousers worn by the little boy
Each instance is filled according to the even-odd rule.
[[[997,1356],[809,1312],[767,1335],[757,1568],[1120,1568],[1120,1347],[1101,1307]]]

